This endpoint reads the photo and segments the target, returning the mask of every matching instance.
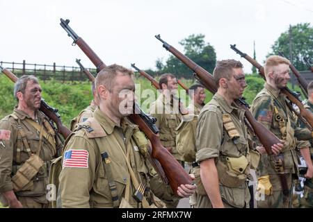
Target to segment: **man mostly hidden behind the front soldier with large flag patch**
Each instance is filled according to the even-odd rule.
[[[78,123],[86,121],[89,117],[93,117],[93,111],[95,111],[95,108],[99,105],[97,94],[95,92],[95,82],[91,84],[91,92],[93,92],[93,101],[91,101],[90,105],[88,105],[86,109],[82,110],[77,117],[72,119],[70,123],[70,130],[74,131]]]

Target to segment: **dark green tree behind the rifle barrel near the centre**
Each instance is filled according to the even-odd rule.
[[[212,72],[216,65],[216,53],[214,47],[209,43],[204,42],[205,35],[189,35],[184,40],[179,42],[184,46],[184,54],[200,65],[202,68]],[[190,78],[193,71],[186,67],[175,56],[170,55],[170,58],[163,64],[161,59],[156,62],[156,67],[161,73],[172,73],[178,78]]]

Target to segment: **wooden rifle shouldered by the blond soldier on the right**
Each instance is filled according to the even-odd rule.
[[[264,80],[265,80],[264,67],[262,67],[262,65],[260,65],[256,60],[254,60],[253,58],[248,56],[246,53],[243,53],[239,49],[237,49],[235,44],[230,45],[230,48],[232,50],[236,51],[236,53],[238,53],[241,57],[248,60],[248,62],[250,62],[254,67],[256,67],[259,70],[259,75],[262,76],[262,78],[264,78]],[[287,99],[289,99],[289,101],[291,101],[291,103],[294,103],[298,106],[298,108],[300,110],[300,114],[298,114],[298,112],[296,112],[296,110],[294,110],[294,108],[292,108],[292,106],[289,103],[287,103],[289,108],[291,110],[293,110],[294,113],[296,113],[298,115],[299,119],[301,119],[301,121],[303,121],[303,123],[305,123],[307,125],[309,130],[312,131],[313,114],[309,110],[305,109],[302,101],[298,98],[298,94],[296,94],[295,92],[292,92],[288,87],[284,87],[284,89],[281,89],[281,92],[287,96]]]

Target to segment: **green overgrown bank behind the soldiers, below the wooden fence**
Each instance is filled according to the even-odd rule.
[[[158,80],[159,77],[157,76]],[[187,87],[190,87],[195,82],[195,79],[185,79],[180,78],[179,80],[184,83]],[[256,94],[262,89],[264,85],[264,80],[258,75],[246,76],[248,87],[246,87],[243,94],[246,97],[248,103],[252,103]],[[151,89],[152,96],[150,98],[151,102],[157,99],[157,90],[152,87],[150,82],[136,75],[136,96],[140,99],[141,108],[144,112],[147,112],[150,108],[145,100],[148,96],[143,94],[144,89]],[[13,107],[17,105],[17,101],[13,97],[13,83],[6,76],[0,76],[0,119],[10,114],[13,111]],[[61,83],[56,80],[47,80],[46,83],[40,81],[42,87],[42,98],[54,108],[58,108],[59,114],[61,114],[61,119],[66,126],[70,125],[70,120],[79,114],[81,110],[86,108],[90,101],[92,100],[92,94],[90,89],[90,82],[70,82]],[[179,89],[182,87],[179,86]],[[296,89],[298,91],[298,89]],[[207,94],[207,99],[205,103],[209,102],[212,98],[212,94],[205,90]],[[180,92],[180,96],[184,96],[184,92]],[[186,105],[188,105],[188,96],[186,96]]]

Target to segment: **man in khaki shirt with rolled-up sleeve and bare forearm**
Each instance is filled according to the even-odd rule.
[[[245,110],[234,103],[247,86],[242,67],[236,60],[217,62],[213,76],[218,91],[198,117],[196,161],[200,164],[200,176],[195,175],[198,207],[249,207],[247,179],[252,179],[252,166]],[[273,152],[278,153],[280,146],[275,144]]]

